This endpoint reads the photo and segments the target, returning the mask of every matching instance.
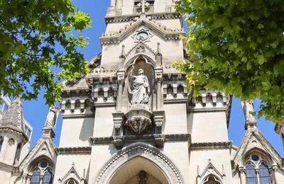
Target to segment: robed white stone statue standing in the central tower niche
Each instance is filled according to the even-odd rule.
[[[137,76],[133,76],[132,73],[133,69],[129,74],[129,93],[132,94],[131,105],[147,105],[150,93],[148,77],[144,75],[143,69],[138,69]]]

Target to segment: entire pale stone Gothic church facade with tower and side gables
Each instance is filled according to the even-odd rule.
[[[59,146],[58,110],[50,108],[43,136],[23,161],[0,154],[1,183],[284,183],[283,158],[258,130],[253,103],[242,103],[246,134],[234,146],[231,96],[205,91],[195,98],[172,67],[190,60],[175,0],[111,0],[105,21],[102,53],[89,61],[89,74],[64,84]],[[0,136],[25,144],[21,100],[14,108]],[[1,152],[16,154],[9,141],[0,143]]]

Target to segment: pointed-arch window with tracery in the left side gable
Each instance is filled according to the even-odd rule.
[[[53,171],[48,161],[41,161],[33,168],[30,184],[52,184]]]

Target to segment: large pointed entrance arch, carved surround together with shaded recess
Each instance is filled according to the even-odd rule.
[[[136,169],[132,168],[132,171],[131,166],[136,166],[136,164],[139,164],[139,166]],[[175,163],[159,149],[143,142],[126,146],[114,154],[109,161],[104,163],[93,183],[101,184],[116,181],[116,178],[120,177],[122,173],[126,175],[127,171],[130,173],[127,173],[129,176],[126,179],[129,180],[140,171],[148,171],[150,176],[157,178],[159,182],[183,183],[182,176]]]

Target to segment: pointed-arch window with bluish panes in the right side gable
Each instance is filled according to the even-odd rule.
[[[271,184],[271,175],[266,161],[256,154],[246,161],[247,184]]]

